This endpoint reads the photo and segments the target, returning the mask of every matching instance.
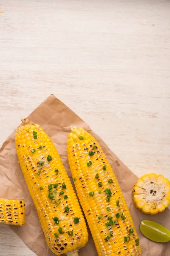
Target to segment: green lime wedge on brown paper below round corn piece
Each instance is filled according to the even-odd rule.
[[[170,241],[170,231],[155,221],[141,221],[140,230],[148,239],[165,243]]]

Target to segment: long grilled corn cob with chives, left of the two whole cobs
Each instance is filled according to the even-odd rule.
[[[73,186],[48,135],[40,125],[22,121],[15,145],[46,241],[56,255],[76,256],[88,232]]]

